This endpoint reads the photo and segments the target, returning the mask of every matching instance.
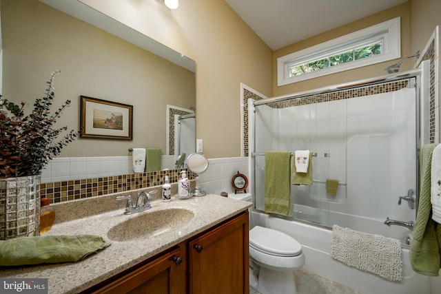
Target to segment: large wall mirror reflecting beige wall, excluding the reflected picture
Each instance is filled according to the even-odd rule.
[[[59,101],[72,103],[59,126],[79,129],[81,95],[134,106],[132,141],[79,138],[60,157],[131,156],[132,147],[160,147],[170,155],[165,168],[174,169],[174,117],[195,113],[194,61],[76,0],[2,0],[1,31],[4,98],[32,106],[50,72],[61,70],[52,111]]]

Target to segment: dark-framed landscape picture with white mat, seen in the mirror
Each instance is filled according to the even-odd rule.
[[[80,138],[132,140],[133,105],[80,98]]]

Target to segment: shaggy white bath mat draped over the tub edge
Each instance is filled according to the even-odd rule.
[[[397,239],[334,225],[329,253],[343,264],[387,280],[402,281],[401,245]]]

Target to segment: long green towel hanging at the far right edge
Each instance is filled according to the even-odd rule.
[[[420,151],[420,199],[409,259],[413,271],[437,277],[440,271],[441,225],[431,218],[431,159],[438,144],[424,145]]]

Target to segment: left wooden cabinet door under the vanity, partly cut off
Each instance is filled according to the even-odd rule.
[[[179,246],[92,293],[185,293],[183,252]]]

